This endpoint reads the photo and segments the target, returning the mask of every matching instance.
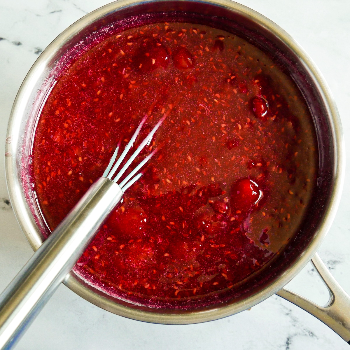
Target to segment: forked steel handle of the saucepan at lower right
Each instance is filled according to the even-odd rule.
[[[329,291],[329,300],[325,306],[317,305],[286,288],[276,294],[317,317],[350,345],[350,296],[331,275],[317,253],[311,262]]]

